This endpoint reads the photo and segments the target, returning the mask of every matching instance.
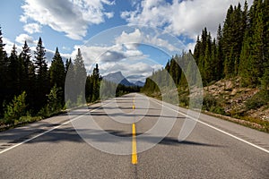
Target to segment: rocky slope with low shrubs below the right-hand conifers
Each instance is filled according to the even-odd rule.
[[[212,115],[219,114],[223,119],[269,132],[268,91],[241,87],[239,78],[217,81],[204,87],[203,108]]]

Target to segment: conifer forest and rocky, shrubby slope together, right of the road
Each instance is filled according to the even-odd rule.
[[[188,107],[189,88],[195,89],[195,83],[187,84],[186,80],[186,76],[195,80],[193,64],[188,60],[191,55],[202,77],[205,113],[269,132],[268,21],[268,1],[254,0],[250,7],[247,1],[243,7],[230,6],[216,38],[204,28],[197,37],[195,51],[172,56],[164,69],[152,72],[142,92],[161,98],[158,86],[163,89],[160,84],[175,83],[178,106]]]

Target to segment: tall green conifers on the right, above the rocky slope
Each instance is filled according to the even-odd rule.
[[[187,86],[186,75],[195,80],[196,74],[191,72],[194,64],[187,60],[189,55],[195,59],[204,86],[221,79],[239,77],[242,86],[260,86],[268,90],[269,1],[254,0],[250,8],[247,1],[243,8],[241,4],[230,5],[216,38],[212,38],[211,32],[204,28],[197,37],[194,53],[189,51],[172,56],[164,69],[152,72],[143,91],[159,90],[152,79],[169,85],[167,74],[178,87]],[[180,67],[178,64],[181,64]],[[181,68],[185,69],[185,73]]]

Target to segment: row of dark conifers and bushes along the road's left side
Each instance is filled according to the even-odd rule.
[[[66,105],[77,106],[82,98],[81,96],[78,98],[77,95],[67,97],[68,101],[65,104],[67,73],[79,94],[82,90],[86,91],[87,102],[99,99],[101,77],[98,64],[92,74],[87,76],[80,49],[74,61],[69,58],[64,63],[56,47],[55,55],[48,67],[46,49],[41,38],[33,53],[34,56],[31,56],[26,41],[20,54],[17,52],[17,47],[13,45],[8,56],[4,46],[0,29],[0,118],[6,119],[8,123],[13,123],[22,115],[46,117],[58,113],[66,108]]]

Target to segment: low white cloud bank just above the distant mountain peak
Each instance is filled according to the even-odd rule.
[[[111,39],[104,44],[85,44],[75,46],[72,53],[73,59],[77,55],[77,49],[80,48],[86,66],[87,72],[92,72],[95,64],[100,64],[100,73],[107,75],[111,72],[122,72],[130,81],[144,81],[152,72],[162,67],[149,54],[140,49],[143,43],[154,43],[152,46],[169,47],[169,41],[158,38],[158,36],[146,35],[147,33],[140,29],[127,29],[118,32],[117,36],[110,35]],[[103,37],[101,35],[101,37]],[[97,40],[95,40],[97,41]],[[159,49],[151,49],[158,50]],[[135,78],[133,78],[135,77]]]

